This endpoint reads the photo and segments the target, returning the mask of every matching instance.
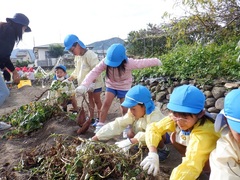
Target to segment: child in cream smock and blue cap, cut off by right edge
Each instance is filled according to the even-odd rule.
[[[224,109],[215,121],[215,130],[221,129],[221,138],[210,155],[210,179],[240,179],[240,89],[225,97]]]

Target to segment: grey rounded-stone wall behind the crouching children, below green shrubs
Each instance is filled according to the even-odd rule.
[[[167,112],[167,103],[173,89],[183,84],[191,84],[198,87],[206,96],[205,109],[213,118],[223,109],[224,98],[232,89],[240,88],[240,82],[227,82],[226,80],[214,80],[211,85],[199,85],[194,80],[171,81],[164,78],[147,79],[140,82],[152,92],[152,97],[160,106],[163,113]],[[240,102],[239,102],[240,103]]]

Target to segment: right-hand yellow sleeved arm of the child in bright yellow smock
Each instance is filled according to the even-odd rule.
[[[197,179],[215,148],[217,139],[218,134],[211,122],[206,122],[202,126],[195,125],[190,134],[186,156],[182,163],[173,169],[171,179]]]

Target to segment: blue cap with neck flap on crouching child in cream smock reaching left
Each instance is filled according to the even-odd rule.
[[[150,91],[142,85],[133,86],[126,94],[123,103],[124,107],[131,108],[137,104],[144,104],[146,114],[151,114],[155,109],[154,102],[152,101]]]

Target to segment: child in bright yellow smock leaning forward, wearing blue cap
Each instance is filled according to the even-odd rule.
[[[170,179],[197,179],[208,167],[210,152],[216,147],[219,134],[214,131],[213,119],[204,111],[205,96],[195,86],[182,85],[173,90],[167,108],[169,116],[154,122],[146,130],[148,156],[141,162],[148,174],[157,175],[159,161],[157,146],[166,132],[172,145],[182,154],[182,163],[173,169]]]

